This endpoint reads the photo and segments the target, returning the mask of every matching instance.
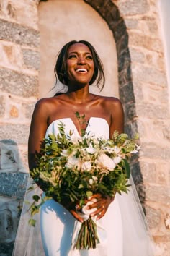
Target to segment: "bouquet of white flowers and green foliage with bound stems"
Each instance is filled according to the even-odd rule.
[[[58,135],[48,135],[44,139],[37,168],[30,171],[45,191],[45,197],[33,196],[30,211],[34,216],[42,203],[50,198],[74,210],[79,204],[80,214],[83,213],[85,218],[73,248],[96,248],[99,243],[97,224],[90,215],[86,216],[86,200],[97,193],[104,197],[115,197],[116,192],[120,195],[128,193],[128,159],[140,149],[136,144],[138,137],[130,139],[127,134],[119,135],[118,132],[114,132],[112,140],[96,138],[86,132],[82,137],[75,137],[72,132],[66,136],[62,121],[58,129]],[[30,224],[35,226],[33,218]]]

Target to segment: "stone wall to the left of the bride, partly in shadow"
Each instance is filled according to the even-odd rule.
[[[27,185],[27,139],[37,101],[37,3],[0,1],[0,255],[12,255]]]

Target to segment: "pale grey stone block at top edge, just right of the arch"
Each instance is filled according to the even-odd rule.
[[[123,16],[132,16],[138,14],[146,14],[149,11],[150,6],[147,0],[128,0],[128,1],[120,1],[118,3],[118,7],[120,9],[120,13]]]

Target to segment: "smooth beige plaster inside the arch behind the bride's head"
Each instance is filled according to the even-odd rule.
[[[48,0],[38,7],[40,27],[40,98],[55,84],[54,66],[58,51],[70,40],[88,40],[96,48],[104,64],[106,83],[99,93],[119,98],[117,54],[112,31],[99,14],[83,0]]]

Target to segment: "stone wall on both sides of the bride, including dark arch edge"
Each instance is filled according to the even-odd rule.
[[[85,1],[85,0],[84,0]],[[132,163],[156,255],[168,256],[169,95],[157,0],[86,0],[106,20],[117,46],[125,127],[139,132]],[[0,0],[0,255],[11,255],[27,183],[27,136],[40,64],[38,0]],[[5,221],[4,220],[5,216]]]

